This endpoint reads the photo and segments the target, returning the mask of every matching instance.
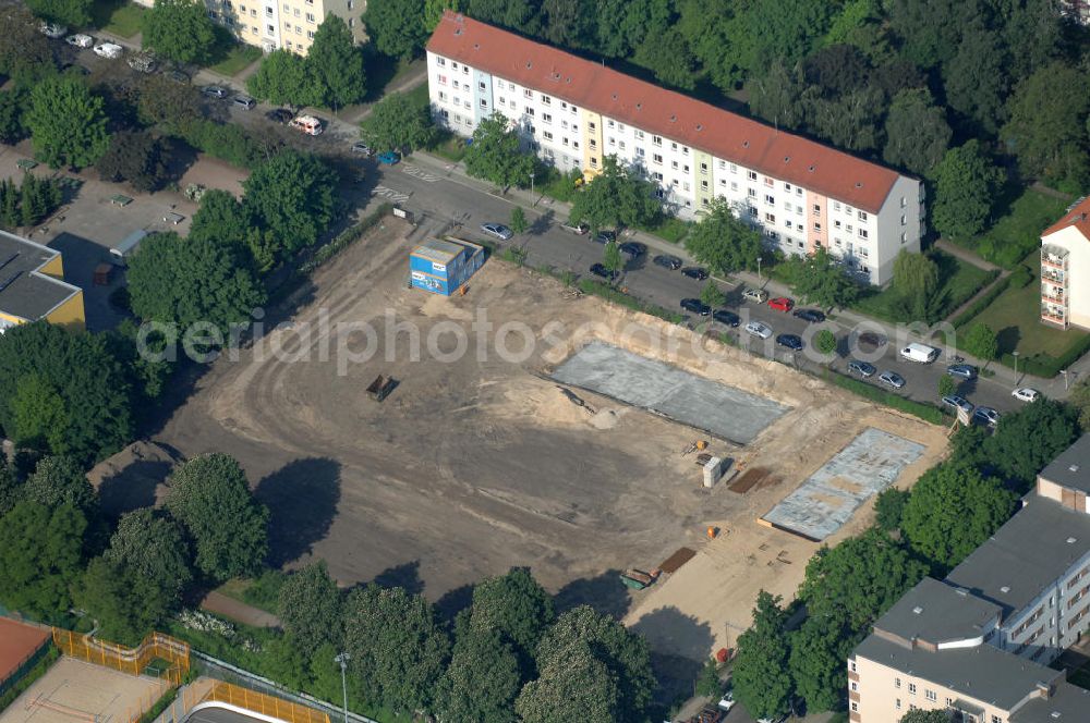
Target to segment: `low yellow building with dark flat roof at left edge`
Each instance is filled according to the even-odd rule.
[[[83,290],[64,281],[60,252],[0,231],[0,333],[39,319],[83,329]]]

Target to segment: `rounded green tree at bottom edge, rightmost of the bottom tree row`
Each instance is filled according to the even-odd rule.
[[[622,721],[628,701],[609,667],[585,642],[572,645],[564,660],[542,665],[541,676],[522,688],[514,709],[522,723]]]

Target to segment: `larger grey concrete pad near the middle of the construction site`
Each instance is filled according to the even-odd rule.
[[[772,400],[603,342],[579,350],[552,377],[737,444],[752,442],[788,410]]]

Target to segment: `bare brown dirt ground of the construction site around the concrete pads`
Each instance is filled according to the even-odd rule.
[[[218,451],[241,461],[272,511],[275,564],[323,557],[343,584],[377,578],[448,601],[483,576],[529,565],[561,604],[586,601],[618,615],[639,604],[654,614],[649,623],[688,620],[695,632],[668,647],[703,654],[722,641],[723,620],[748,621],[758,589],[794,589],[816,549],[758,517],[865,427],[927,445],[903,485],[945,446],[942,430],[717,342],[698,353],[687,330],[573,298],[557,281],[497,259],[464,296],[412,291],[410,232],[388,220],[318,272],[300,295],[293,328],[238,360],[217,360],[155,439],[186,456]],[[481,315],[488,333],[471,328]],[[368,341],[338,322],[375,333]],[[468,335],[464,354],[456,353],[456,330]],[[508,354],[497,352],[500,336]],[[744,493],[705,490],[695,455],[681,455],[705,434],[590,392],[576,390],[590,408],[574,404],[545,375],[594,340],[789,407],[744,448],[708,440],[708,452],[774,475]],[[356,359],[338,352],[346,344]],[[374,354],[359,360],[367,344]],[[284,356],[277,347],[301,358],[277,358]],[[380,404],[365,393],[379,373],[399,381]],[[725,551],[740,546],[737,557],[702,562],[710,525],[724,530],[712,546],[729,540]],[[768,538],[773,557],[789,548],[788,564],[747,562],[749,548],[756,554]],[[633,598],[617,580],[619,571],[655,567],[681,546],[701,554],[675,579],[708,573],[692,601],[678,591],[655,605],[666,586]],[[728,584],[735,591],[724,590]],[[715,612],[723,596],[732,609]]]

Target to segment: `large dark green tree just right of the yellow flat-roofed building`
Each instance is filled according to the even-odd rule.
[[[205,322],[226,336],[231,324],[246,326],[265,302],[265,290],[238,249],[205,236],[147,236],[129,261],[128,278],[133,313],[178,324],[180,333]]]

